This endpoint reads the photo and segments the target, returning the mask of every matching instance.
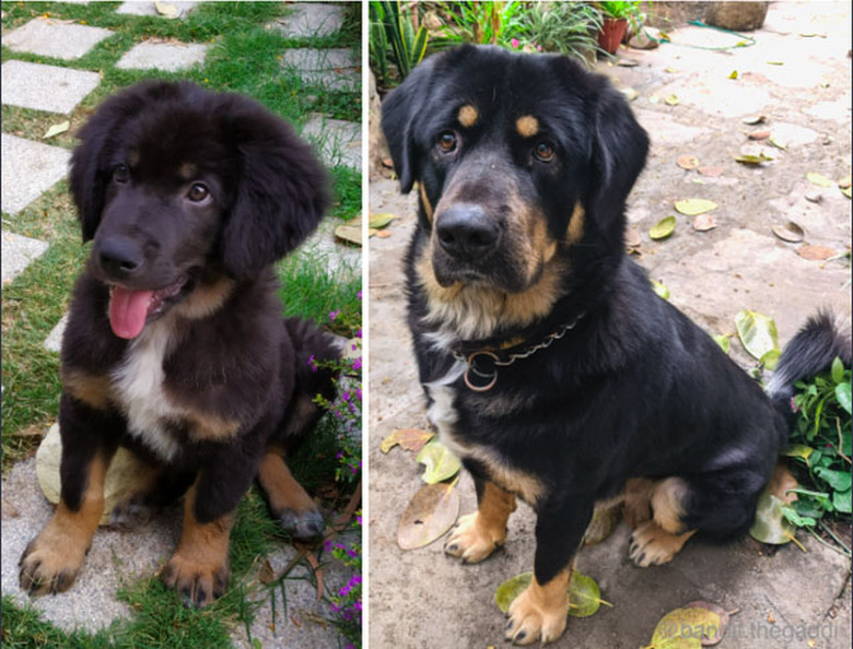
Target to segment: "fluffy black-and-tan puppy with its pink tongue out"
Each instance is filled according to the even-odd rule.
[[[315,394],[334,394],[309,356],[337,351],[282,318],[271,263],[317,226],[326,176],[259,104],[190,83],[121,92],[80,140],[71,192],[94,243],[62,341],[61,502],[21,558],[21,586],[71,586],[124,445],[150,473],[113,522],[188,489],[163,578],[203,606],[225,589],[233,512],[256,475],[296,536],[324,528],[284,455],[320,416]]]

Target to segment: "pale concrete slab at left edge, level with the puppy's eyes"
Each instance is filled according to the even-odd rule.
[[[16,214],[65,177],[71,152],[3,133],[2,209]]]

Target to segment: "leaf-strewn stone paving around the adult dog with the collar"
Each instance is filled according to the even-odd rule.
[[[674,43],[657,50],[624,52],[636,67],[598,64],[627,93],[633,88],[633,108],[653,142],[629,212],[631,226],[642,233],[640,263],[669,287],[674,304],[712,333],[733,333],[743,308],[775,318],[783,343],[820,306],[850,315],[849,262],[808,261],[797,255],[802,244],[785,244],[770,229],[794,221],[805,229],[805,243],[849,249],[850,200],[836,186],[810,185],[806,174],[833,180],[850,174],[850,4],[773,3],[764,27],[750,34],[756,45],[747,48],[691,48],[733,44],[699,27],[670,35]],[[733,71],[738,79],[728,79]],[[677,97],[674,106],[666,103],[670,96]],[[767,122],[743,123],[755,114]],[[747,139],[762,128],[786,140],[787,149]],[[745,146],[774,160],[760,168],[739,165],[733,155]],[[681,155],[720,166],[722,174],[680,169]],[[818,189],[820,198],[813,193]],[[686,198],[717,202],[716,228],[694,232],[679,216],[671,238],[652,241],[648,228],[675,214],[674,201]],[[399,269],[413,204],[413,197],[399,197],[396,184],[371,178],[371,211],[401,216],[389,237],[371,239],[370,249],[371,647],[500,646],[504,618],[493,594],[503,580],[531,569],[529,508],[521,506],[511,519],[505,550],[480,565],[444,557],[442,541],[409,552],[396,544],[398,520],[422,485],[422,467],[399,449],[383,455],[379,441],[394,429],[428,425],[414,364],[401,351],[408,335]],[[739,344],[732,346],[735,359],[749,365]],[[474,510],[470,480],[464,477],[458,488],[461,511]],[[668,611],[708,600],[740,611],[721,647],[849,647],[850,562],[801,536],[807,553],[794,545],[768,552],[751,539],[725,547],[693,543],[670,565],[644,570],[628,560],[622,524],[584,550],[577,566],[598,581],[614,607],[570,620],[556,646],[647,645]]]

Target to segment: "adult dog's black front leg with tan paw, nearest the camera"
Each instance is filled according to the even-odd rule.
[[[536,558],[530,586],[510,605],[506,639],[552,642],[565,629],[574,555],[593,517],[593,498],[546,503],[536,521]]]

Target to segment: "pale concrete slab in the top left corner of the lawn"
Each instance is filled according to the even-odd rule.
[[[101,27],[69,25],[37,17],[3,36],[3,45],[12,51],[26,51],[70,61],[79,59],[112,35],[113,32]]]

